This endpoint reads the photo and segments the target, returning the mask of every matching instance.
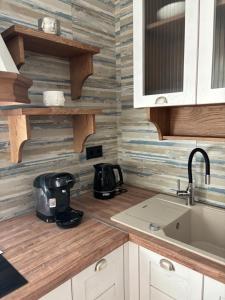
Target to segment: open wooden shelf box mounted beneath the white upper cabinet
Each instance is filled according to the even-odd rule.
[[[225,142],[225,104],[149,108],[159,140]]]

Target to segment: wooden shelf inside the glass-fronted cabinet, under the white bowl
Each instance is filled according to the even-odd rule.
[[[165,20],[161,20],[161,21],[156,21],[152,24],[149,24],[147,26],[147,30],[148,31],[152,31],[152,30],[159,30],[159,29],[167,29],[167,30],[170,30],[171,26],[173,27],[173,31],[174,31],[174,26],[181,26],[182,24],[184,25],[184,21],[185,21],[185,18],[184,18],[184,14],[182,15],[178,15],[178,16],[175,16],[175,17],[172,17],[172,18],[168,18],[168,19],[165,19]]]

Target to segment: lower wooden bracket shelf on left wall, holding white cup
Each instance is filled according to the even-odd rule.
[[[72,116],[74,151],[82,152],[86,139],[95,133],[95,115],[99,109],[79,109],[71,107],[13,108],[0,110],[0,116],[8,117],[11,161],[22,161],[24,143],[31,138],[29,116]]]

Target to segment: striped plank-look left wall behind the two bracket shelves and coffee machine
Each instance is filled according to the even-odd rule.
[[[66,95],[66,105],[103,109],[104,114],[96,118],[96,135],[87,145],[102,144],[104,157],[86,161],[85,153],[73,153],[70,117],[35,116],[31,118],[32,140],[24,147],[24,160],[13,165],[9,162],[7,122],[0,118],[0,220],[34,210],[32,182],[39,174],[71,172],[77,181],[72,191],[75,196],[92,187],[93,164],[117,162],[113,0],[0,0],[0,32],[14,23],[37,28],[37,19],[43,15],[60,19],[63,36],[98,45],[102,50],[94,59],[94,75],[85,84],[82,98],[76,102],[71,102],[68,61],[26,52],[26,64],[21,73],[34,81],[30,90],[32,103],[42,102],[43,90],[59,89]]]

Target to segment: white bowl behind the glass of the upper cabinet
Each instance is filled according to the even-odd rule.
[[[167,4],[157,11],[157,19],[165,20],[185,13],[185,1]]]

